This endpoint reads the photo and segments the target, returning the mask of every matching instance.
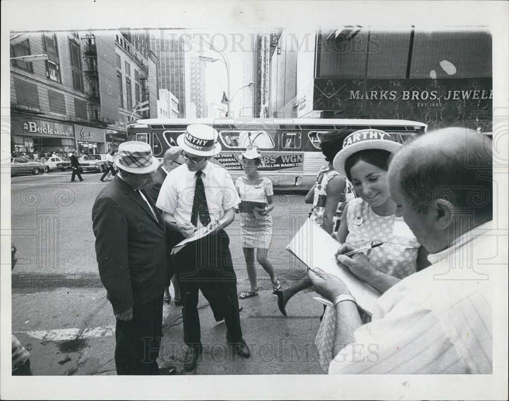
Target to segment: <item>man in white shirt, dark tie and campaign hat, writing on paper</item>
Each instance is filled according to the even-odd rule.
[[[184,369],[194,369],[203,350],[198,291],[209,301],[216,320],[224,318],[227,341],[235,353],[250,357],[242,336],[237,297],[237,278],[230,254],[230,239],[223,230],[235,219],[240,203],[233,180],[223,167],[210,162],[219,153],[218,133],[212,127],[195,124],[177,138],[185,164],[166,176],[156,206],[165,222],[181,233],[181,240],[196,229],[207,227],[209,234],[187,243],[173,258],[181,289],[184,342],[189,347]]]

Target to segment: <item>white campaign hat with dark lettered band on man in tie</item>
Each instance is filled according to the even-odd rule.
[[[187,126],[186,133],[177,138],[177,144],[191,155],[214,156],[221,151],[218,136],[217,131],[210,126],[191,124]]]

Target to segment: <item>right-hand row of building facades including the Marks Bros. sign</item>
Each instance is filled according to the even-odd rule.
[[[257,49],[260,115],[409,119],[429,129],[491,131],[486,30],[282,30],[260,37]]]

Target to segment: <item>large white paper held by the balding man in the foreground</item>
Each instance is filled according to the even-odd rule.
[[[365,312],[372,314],[373,303],[380,293],[357,277],[345,266],[336,263],[334,257],[340,243],[325,230],[307,219],[297,231],[286,249],[312,269],[320,269],[326,273],[340,277],[350,289],[352,295]]]

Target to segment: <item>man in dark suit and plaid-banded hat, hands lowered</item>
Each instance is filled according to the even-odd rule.
[[[162,337],[162,302],[169,283],[165,224],[143,190],[159,162],[144,142],[120,144],[117,174],[92,209],[99,275],[117,318],[115,364],[118,375],[160,372],[156,359]]]

